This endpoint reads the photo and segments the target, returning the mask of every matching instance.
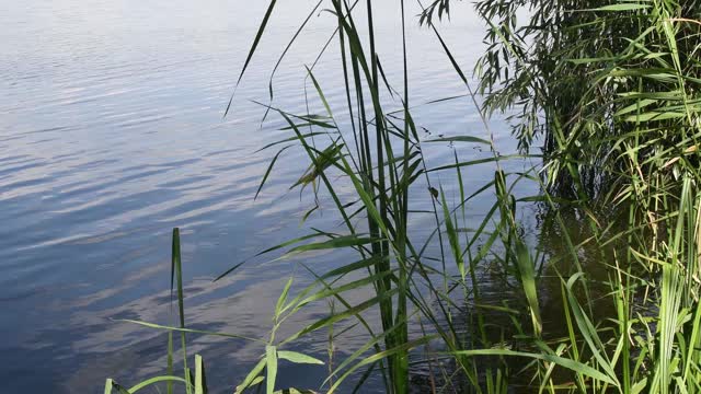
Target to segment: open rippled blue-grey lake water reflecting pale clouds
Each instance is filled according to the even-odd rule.
[[[130,384],[162,373],[165,336],[115,320],[173,322],[173,227],[183,231],[187,321],[197,328],[265,336],[294,266],[254,260],[225,281],[211,279],[309,225],[337,225],[332,209],[322,209],[299,227],[312,206],[309,196],[288,192],[307,163],[300,150],[287,151],[253,201],[274,154],[254,152],[289,131],[276,131],[283,126],[277,117],[261,123],[262,108],[249,100],[267,99],[273,65],[313,2],[281,2],[233,113],[222,119],[265,5],[244,0],[0,4],[3,392],[97,393],[106,376]],[[382,65],[401,86],[398,8],[383,2],[378,10],[386,15],[377,27],[378,51],[388,54]],[[444,33],[471,70],[482,30],[468,4],[455,12]],[[274,103],[290,112],[304,112],[303,65],[313,62],[332,32],[330,14],[317,14],[274,78]],[[317,77],[341,109],[337,57],[332,46]],[[415,104],[466,93],[430,32],[415,24],[410,63]],[[320,109],[318,101],[310,104]],[[467,99],[418,107],[415,116],[434,136],[483,132]],[[513,149],[504,126],[495,127],[502,130],[499,148]],[[441,146],[426,153],[439,162],[451,160],[452,150]],[[463,159],[479,154],[461,151]],[[481,185],[491,176],[485,167],[468,174],[468,182]],[[445,177],[450,189],[450,176]],[[428,202],[427,197],[417,204]],[[338,257],[309,258],[321,269]],[[297,276],[299,286],[308,281]],[[326,311],[324,305],[306,311],[284,333]],[[300,343],[300,349],[324,352],[323,337]],[[191,350],[210,366],[217,393],[229,392],[261,354],[260,346],[241,341],[192,339]],[[340,344],[340,351],[353,349],[353,340]],[[324,370],[281,373],[285,383],[314,387]]]

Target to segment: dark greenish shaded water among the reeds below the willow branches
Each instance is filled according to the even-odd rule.
[[[613,321],[618,318],[613,300],[608,297],[613,290],[612,278],[608,277],[605,265],[616,264],[616,254],[624,254],[628,250],[625,239],[607,243],[601,247],[594,241],[595,233],[591,230],[591,222],[587,215],[591,211],[577,209],[571,205],[560,205],[554,209],[544,204],[533,204],[531,206],[536,220],[524,223],[522,230],[531,233],[532,246],[542,253],[539,264],[538,294],[543,321],[542,341],[550,347],[566,343],[568,339],[568,327],[565,309],[571,308],[566,301],[564,287],[573,274],[584,273],[583,278],[587,281],[585,293],[583,286],[576,286],[574,293],[591,321],[605,322],[598,326],[601,340],[607,344],[609,339],[614,339],[612,327]],[[598,223],[609,227],[609,231],[619,234],[625,223],[625,207],[618,207],[616,211],[599,211],[596,215]],[[560,223],[565,223],[562,228]],[[577,260],[575,262],[571,248],[567,246],[565,236],[575,245]],[[620,257],[619,257],[620,260]],[[579,270],[578,266],[582,267]],[[628,267],[621,267],[623,269]],[[461,327],[460,335],[467,349],[503,348],[515,351],[532,351],[533,337],[530,333],[530,316],[524,301],[524,293],[514,280],[514,273],[510,267],[504,267],[498,260],[485,260],[479,268],[480,300],[474,297],[462,298],[461,308],[453,310],[453,322]],[[642,274],[642,273],[641,273]],[[635,297],[643,297],[636,294]],[[437,304],[436,304],[437,305]],[[436,306],[438,308],[438,306]],[[485,333],[479,329],[478,320],[482,318],[487,328]],[[607,323],[611,327],[607,327]],[[576,329],[576,327],[575,327]],[[483,336],[484,335],[484,336]],[[581,338],[577,340],[582,340]],[[433,347],[432,347],[433,346]],[[426,357],[426,351],[440,354],[446,351],[443,344],[436,341],[429,349],[422,349],[415,352],[417,367],[412,370],[413,393],[473,393],[476,392],[473,384],[469,382],[463,373],[459,373],[459,366],[452,358],[433,359]],[[586,350],[584,350],[586,351]],[[583,354],[583,357],[588,357]],[[428,360],[428,362],[426,362]],[[632,361],[631,361],[632,362]],[[479,359],[481,368],[480,381],[482,390],[486,390],[486,372],[492,369],[494,373],[497,369],[507,371],[509,374],[507,393],[538,393],[540,387],[533,386],[533,369],[531,360],[513,357],[481,356]],[[622,368],[620,364],[619,369]],[[491,379],[494,380],[494,375]],[[574,373],[563,368],[558,368],[552,373],[555,384],[563,387],[574,386]]]

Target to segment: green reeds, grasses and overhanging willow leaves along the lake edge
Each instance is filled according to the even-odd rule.
[[[269,1],[239,82],[275,5]],[[310,18],[325,10],[337,21],[329,45],[341,53],[344,78],[336,83],[345,89],[346,106],[329,105],[313,65],[307,79],[321,103],[318,113],[266,105],[266,116],[285,120],[289,138],[264,147],[278,151],[256,196],[279,154],[301,149],[309,167],[292,187],[330,201],[324,208],[334,210],[343,232],[309,229],[261,255],[285,259],[325,251],[355,257],[324,273],[296,260],[315,280],[298,292],[290,290],[292,278],[287,281],[267,337],[205,333],[185,324],[175,229],[171,283],[179,324],[129,322],[168,332],[165,372],[131,387],[108,379],[106,394],[153,385],[169,394],[206,393],[204,361],[186,349],[191,333],[260,346],[260,361],[242,382],[232,382],[237,393],[361,393],[371,376],[380,376],[387,393],[409,393],[417,390],[412,376],[418,370],[426,380],[421,390],[430,393],[701,392],[701,3],[435,0],[424,5],[415,18],[398,0],[403,83],[393,86],[380,67],[374,32],[378,18],[390,16],[374,14],[370,0],[320,1]],[[469,7],[486,26],[486,51],[474,70],[461,68],[438,28],[450,23],[451,12]],[[405,26],[416,20],[435,35],[445,61],[464,82],[484,135],[420,138],[405,39]],[[475,89],[468,77],[472,71]],[[398,102],[402,109],[390,112]],[[519,151],[502,154],[489,119],[507,111],[514,114]],[[347,114],[349,121],[342,124],[335,113]],[[429,167],[422,148],[436,142],[478,146],[491,154],[461,161],[456,153],[452,164]],[[538,164],[519,172],[505,165],[526,158]],[[476,165],[491,165],[492,179],[463,184],[464,172]],[[455,181],[457,204],[449,204],[435,181],[438,173]],[[515,186],[526,183],[538,193],[516,197]],[[350,199],[341,187],[353,192]],[[479,196],[494,202],[473,222],[467,205]],[[421,243],[412,236],[416,199],[433,207],[434,229]],[[560,244],[526,239],[518,218],[533,205],[544,212],[538,231],[551,234],[538,240]],[[429,255],[430,245],[439,245],[441,254]],[[485,301],[480,280],[485,269],[517,297],[502,304]],[[358,290],[366,299],[352,302],[347,294]],[[550,305],[548,318],[544,294],[558,298],[559,309]],[[330,305],[326,316],[291,336],[277,335],[290,316],[319,303]],[[368,320],[370,312],[379,322]],[[334,359],[340,323],[364,333],[366,343]],[[327,359],[289,350],[315,332],[329,333]],[[280,360],[324,364],[327,379],[318,387],[280,387]]]

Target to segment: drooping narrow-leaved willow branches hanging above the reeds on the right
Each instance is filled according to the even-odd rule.
[[[664,129],[685,117],[685,105],[698,109],[677,86],[677,74],[685,76],[685,94],[698,92],[697,82],[689,83],[701,77],[696,0],[481,0],[475,8],[490,27],[487,50],[475,67],[484,106],[517,108],[513,125],[520,147],[542,138],[549,181],[560,192],[597,195],[606,188],[616,178],[609,172],[621,164],[611,152],[635,132],[637,119],[659,127],[637,134],[637,146],[654,146],[641,157],[651,157],[679,142]],[[525,22],[518,19],[524,13]],[[567,166],[576,166],[575,178]]]

